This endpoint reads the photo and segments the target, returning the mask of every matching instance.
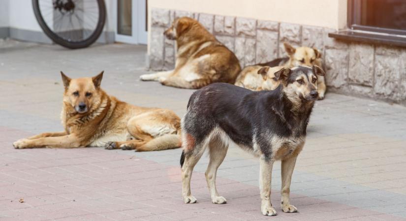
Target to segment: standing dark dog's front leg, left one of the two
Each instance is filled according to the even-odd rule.
[[[259,188],[261,192],[261,212],[265,216],[276,216],[271,203],[271,179],[274,162],[261,156],[259,161]]]

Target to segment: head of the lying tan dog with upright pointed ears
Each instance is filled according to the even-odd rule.
[[[77,113],[86,113],[98,103],[101,97],[100,83],[103,72],[93,78],[70,79],[61,71],[63,86],[63,102],[68,103]]]

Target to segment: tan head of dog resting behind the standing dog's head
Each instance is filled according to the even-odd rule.
[[[321,53],[317,49],[309,47],[294,48],[286,42],[283,43],[283,46],[287,55],[289,55],[289,67],[321,65]]]

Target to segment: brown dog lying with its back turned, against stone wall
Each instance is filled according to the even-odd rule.
[[[237,57],[199,22],[188,17],[179,18],[164,34],[168,39],[176,40],[175,69],[141,75],[142,81],[159,81],[181,88],[235,82],[241,70]]]

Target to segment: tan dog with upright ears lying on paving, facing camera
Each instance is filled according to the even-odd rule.
[[[100,88],[103,72],[79,79],[61,74],[64,131],[19,139],[15,148],[103,146],[151,151],[181,146],[180,118],[173,111],[132,106],[107,95]]]

